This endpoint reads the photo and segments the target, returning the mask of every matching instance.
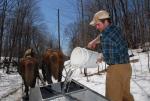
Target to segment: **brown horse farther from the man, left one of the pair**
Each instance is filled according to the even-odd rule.
[[[28,55],[20,60],[20,75],[25,85],[25,97],[28,98],[29,88],[34,88],[38,77],[37,59]]]

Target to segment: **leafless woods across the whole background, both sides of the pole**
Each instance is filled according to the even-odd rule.
[[[142,47],[150,41],[149,0],[67,1],[72,6],[76,5],[76,19],[62,33],[69,39],[68,54],[76,46],[85,47],[99,34],[89,26],[89,22],[100,9],[111,13],[112,22],[122,28],[130,48]],[[38,2],[39,0],[0,0],[0,57],[9,57],[9,60],[12,57],[21,58],[30,47],[36,50],[38,56],[48,47],[58,48],[58,43],[54,41],[58,38],[48,32]]]

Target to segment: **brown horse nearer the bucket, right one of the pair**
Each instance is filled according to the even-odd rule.
[[[61,81],[62,70],[64,68],[64,55],[59,50],[47,49],[43,54],[42,73],[44,80],[52,83],[52,76]]]

